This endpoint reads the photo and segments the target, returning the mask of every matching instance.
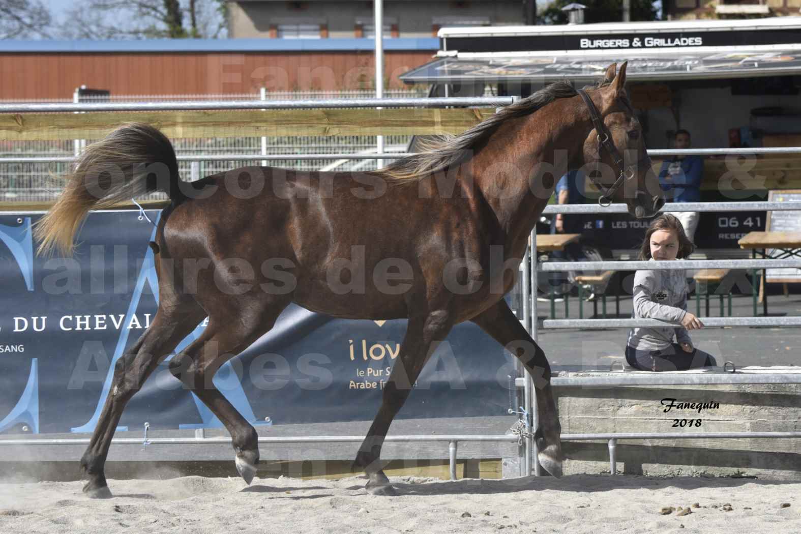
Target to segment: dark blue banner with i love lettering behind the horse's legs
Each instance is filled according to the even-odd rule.
[[[152,220],[158,211],[148,211]],[[92,213],[72,258],[34,254],[40,215],[0,215],[0,433],[92,432],[117,359],[151,323],[158,282],[138,211]],[[205,323],[183,339],[197,339]],[[276,326],[223,365],[215,386],[253,424],[372,420],[405,320],[333,319],[291,305]],[[167,371],[128,404],[120,428],[216,428]],[[434,353],[400,418],[504,415],[513,362],[473,323]]]

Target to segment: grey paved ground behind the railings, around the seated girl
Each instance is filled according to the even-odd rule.
[[[733,297],[733,315],[753,316],[751,296]],[[801,315],[801,295],[770,295],[771,315]],[[695,311],[694,301],[690,311]],[[540,319],[549,314],[549,303],[537,303]],[[600,313],[601,306],[598,304]],[[557,319],[565,318],[564,303],[557,303]],[[607,317],[614,318],[614,297],[607,299]],[[717,297],[710,300],[711,316],[719,317]],[[592,316],[592,303],[584,304],[584,317]],[[621,299],[622,318],[631,314],[631,297]],[[759,315],[762,305],[759,304]],[[703,303],[702,303],[703,315]],[[570,299],[570,318],[578,319],[578,299]],[[702,317],[703,320],[703,317]],[[548,355],[554,370],[608,368],[610,362],[621,359],[626,348],[628,329],[606,330],[539,330],[537,340]],[[704,328],[690,333],[695,345],[714,355],[718,362],[745,365],[801,365],[801,327],[725,327]]]

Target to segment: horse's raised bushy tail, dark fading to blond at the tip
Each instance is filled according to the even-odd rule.
[[[153,126],[131,122],[92,143],[65,177],[66,186],[50,211],[38,221],[38,253],[74,252],[74,235],[90,210],[152,191],[163,191],[173,204],[180,191],[178,161],[172,143]]]

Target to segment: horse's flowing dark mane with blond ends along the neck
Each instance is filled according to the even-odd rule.
[[[592,88],[600,88],[609,82],[602,80]],[[549,86],[501,108],[492,117],[479,122],[460,135],[438,135],[433,139],[419,142],[421,154],[400,159],[384,167],[380,174],[389,180],[419,180],[433,173],[443,171],[452,165],[465,162],[475,147],[493,135],[498,126],[508,118],[532,114],[557,98],[570,98],[578,94],[568,82],[553,82]]]

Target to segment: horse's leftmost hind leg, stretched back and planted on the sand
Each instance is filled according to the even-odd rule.
[[[117,360],[111,391],[103,405],[89,447],[81,458],[81,468],[89,479],[83,491],[89,496],[111,497],[106,484],[106,457],[125,405],[158,367],[159,360],[189,335],[205,315],[203,309],[190,299],[184,299],[168,308],[159,307],[151,326],[131,350]]]

